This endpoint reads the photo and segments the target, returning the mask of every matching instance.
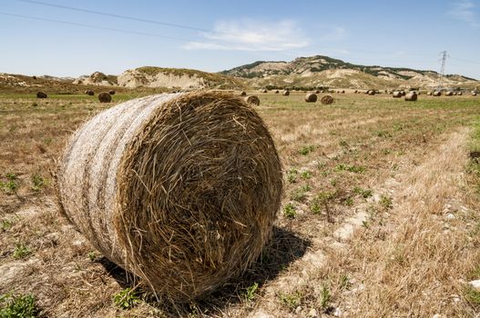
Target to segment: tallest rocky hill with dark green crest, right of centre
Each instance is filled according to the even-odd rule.
[[[410,68],[353,65],[328,56],[299,57],[291,62],[255,62],[221,72],[247,79],[253,87],[434,88],[439,74]],[[475,87],[475,79],[446,75],[444,86]]]

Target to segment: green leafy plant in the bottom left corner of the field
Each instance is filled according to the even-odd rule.
[[[31,294],[0,295],[0,317],[2,318],[33,318],[39,313],[35,297]]]

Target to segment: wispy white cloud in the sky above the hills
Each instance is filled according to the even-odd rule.
[[[189,50],[231,51],[285,51],[308,46],[294,21],[264,22],[252,19],[219,21],[211,33],[203,33],[204,40],[189,42]]]

